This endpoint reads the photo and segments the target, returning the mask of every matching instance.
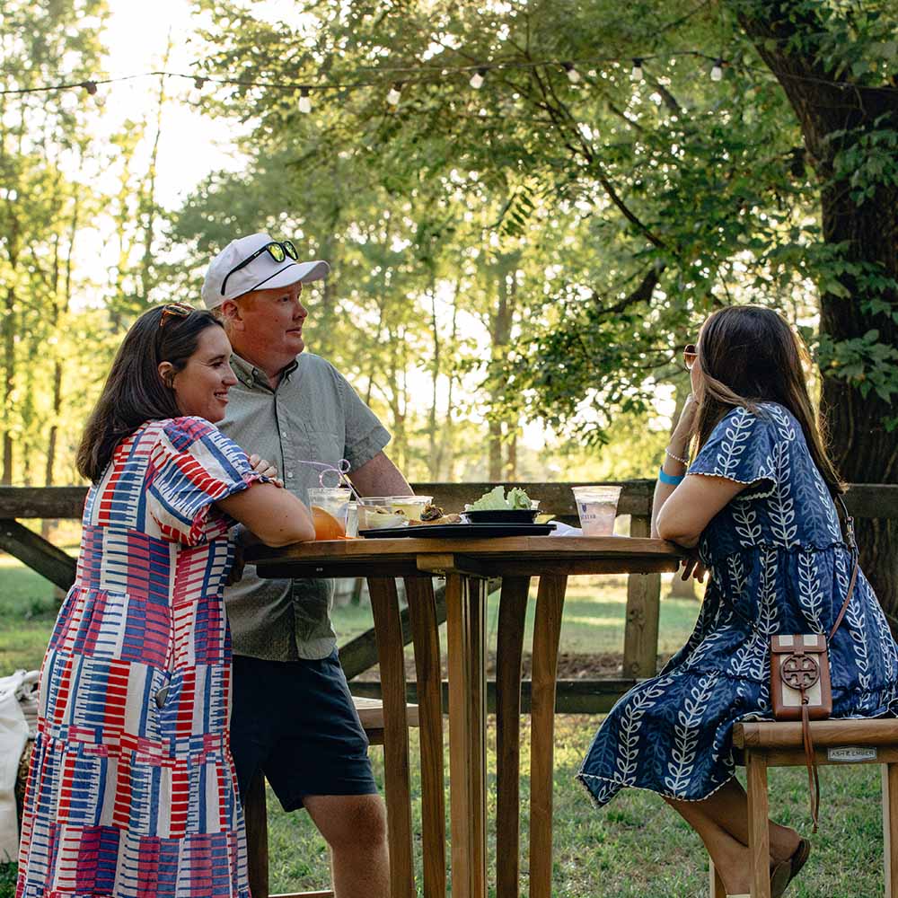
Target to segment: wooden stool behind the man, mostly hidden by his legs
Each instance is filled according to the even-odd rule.
[[[353,704],[368,741],[372,745],[383,745],[383,702],[354,696]],[[409,726],[418,726],[418,705],[406,706],[406,718]],[[384,764],[390,762],[390,756],[386,755]],[[410,797],[406,795],[404,800],[408,802]],[[265,801],[265,778],[261,771],[251,782],[243,803],[243,814],[246,818],[247,865],[252,898],[333,898],[330,890],[269,895],[268,808]]]

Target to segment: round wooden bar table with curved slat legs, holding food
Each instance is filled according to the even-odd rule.
[[[521,662],[524,614],[539,577],[533,629],[530,894],[550,898],[555,684],[568,576],[676,570],[682,550],[630,537],[507,537],[304,542],[247,553],[260,577],[366,577],[383,691],[391,894],[417,894],[409,733],[396,577],[405,580],[418,681],[423,894],[446,894],[443,707],[433,577],[446,578],[452,894],[487,895],[487,580],[502,581],[497,631],[497,898],[520,894]],[[584,746],[585,749],[585,746]]]

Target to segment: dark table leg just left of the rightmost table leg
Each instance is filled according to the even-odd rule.
[[[496,638],[497,898],[520,894],[521,657],[530,577],[504,577]]]

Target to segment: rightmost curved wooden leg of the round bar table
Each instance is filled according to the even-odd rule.
[[[530,751],[530,894],[552,891],[552,786],[555,769],[555,683],[567,577],[540,577],[533,625]]]

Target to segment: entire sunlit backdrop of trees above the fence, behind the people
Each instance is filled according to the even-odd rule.
[[[898,480],[893,2],[194,6],[206,84],[148,80],[156,113],[119,133],[100,94],[0,95],[4,483],[75,482],[122,331],[197,302],[210,255],[261,229],[330,260],[309,347],[412,479],[652,476],[682,345],[756,302],[811,344],[845,479]],[[4,4],[4,89],[97,79],[106,11]],[[163,208],[161,110],[184,101],[233,120],[244,163]],[[860,538],[894,613],[898,529]]]

